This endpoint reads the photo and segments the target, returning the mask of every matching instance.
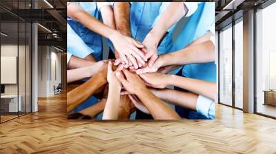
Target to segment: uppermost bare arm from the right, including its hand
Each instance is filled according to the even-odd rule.
[[[216,56],[215,45],[209,39],[210,33],[201,36],[182,50],[161,55],[153,63],[152,67],[147,66],[138,69],[137,74],[157,72],[157,70],[161,73],[168,73],[181,65],[214,62]]]

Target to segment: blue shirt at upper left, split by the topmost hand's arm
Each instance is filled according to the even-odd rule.
[[[79,2],[78,4],[83,10],[96,19],[99,19],[100,14],[95,2]],[[72,47],[68,48],[68,51],[70,51],[72,55],[78,56],[79,58],[84,58],[88,56],[88,54],[92,54],[95,56],[97,61],[100,61],[102,59],[101,36],[95,32],[92,32],[78,21],[68,18],[67,22],[70,25],[70,28],[68,29],[69,32],[67,32],[67,42],[69,47]],[[79,36],[82,41],[77,39],[77,36]],[[72,43],[72,45],[70,45],[70,43]],[[73,47],[73,45],[75,47]],[[88,48],[90,48],[90,50],[87,50]]]

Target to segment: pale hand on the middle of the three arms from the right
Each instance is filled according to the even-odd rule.
[[[149,74],[141,74],[139,75],[146,82],[146,85],[149,87],[163,89],[169,85],[169,77],[168,74],[160,74],[160,73],[149,73]]]

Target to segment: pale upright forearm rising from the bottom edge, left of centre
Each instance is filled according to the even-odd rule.
[[[116,120],[118,119],[121,88],[111,84],[109,86],[108,99],[103,111],[103,120]]]

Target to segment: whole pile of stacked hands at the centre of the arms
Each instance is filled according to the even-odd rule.
[[[121,95],[128,95],[137,109],[150,114],[150,111],[139,100],[139,96],[142,95],[142,91],[151,91],[156,95],[155,88],[167,87],[170,76],[165,73],[169,69],[163,67],[162,56],[157,56],[157,47],[146,47],[135,40],[133,42],[139,50],[121,52],[120,58],[108,61],[107,80],[110,86],[119,88]],[[112,65],[117,66],[114,72]]]

